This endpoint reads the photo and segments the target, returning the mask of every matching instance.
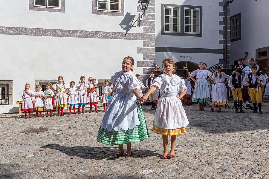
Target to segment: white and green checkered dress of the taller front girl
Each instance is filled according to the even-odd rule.
[[[149,137],[146,121],[134,89],[140,83],[130,72],[116,72],[110,79],[115,84],[115,93],[108,101],[97,142],[120,145],[140,142]]]

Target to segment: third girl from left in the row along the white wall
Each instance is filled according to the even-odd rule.
[[[56,109],[56,107],[54,107],[54,92],[53,90],[51,90],[51,83],[46,83],[46,90],[44,91],[44,111],[47,111],[47,117],[48,112],[50,111],[50,116],[52,116],[52,109]]]

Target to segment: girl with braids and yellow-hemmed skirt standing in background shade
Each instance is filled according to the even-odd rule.
[[[216,72],[213,74],[211,80],[213,81],[214,88],[212,88],[212,104],[213,107],[211,111],[214,112],[215,105],[219,106],[219,109],[216,112],[221,112],[221,107],[224,104],[228,104],[227,88],[225,84],[228,81],[225,81],[225,78],[228,79],[230,76],[224,72],[221,72],[221,67],[215,67]]]

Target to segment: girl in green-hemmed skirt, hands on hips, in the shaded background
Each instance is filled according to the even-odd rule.
[[[193,77],[196,76],[196,79]],[[209,78],[207,79],[207,77]],[[212,73],[204,70],[204,62],[199,63],[199,69],[191,73],[190,78],[195,81],[192,94],[192,102],[199,104],[199,111],[204,111],[204,103],[210,102],[210,91],[208,81],[212,78]]]

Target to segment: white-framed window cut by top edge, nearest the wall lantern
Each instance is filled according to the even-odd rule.
[[[96,0],[96,10],[120,12],[120,0]]]

